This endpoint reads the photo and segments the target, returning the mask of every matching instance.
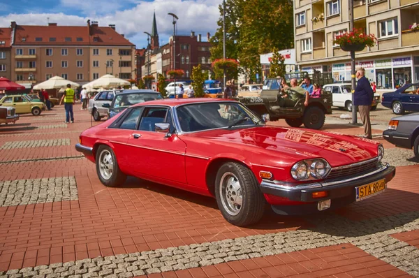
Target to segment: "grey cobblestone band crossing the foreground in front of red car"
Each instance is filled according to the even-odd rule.
[[[406,242],[390,237],[394,233],[419,229],[419,212],[360,222],[337,216],[327,219],[314,218],[311,221],[316,224],[316,228],[311,230],[252,235],[234,240],[87,258],[75,262],[8,270],[0,272],[0,275],[3,277],[36,277],[36,275],[133,277],[351,243],[410,275],[419,277],[419,250]]]

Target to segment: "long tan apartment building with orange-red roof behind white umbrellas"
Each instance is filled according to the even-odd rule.
[[[135,45],[115,25],[18,25],[12,22],[11,79],[39,83],[54,75],[84,84],[106,73],[124,79],[135,75]]]

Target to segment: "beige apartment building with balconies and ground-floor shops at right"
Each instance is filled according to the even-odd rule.
[[[300,70],[332,72],[335,80],[351,80],[349,52],[334,45],[335,36],[349,30],[348,1],[297,0],[294,2],[295,52]],[[419,82],[419,1],[354,1],[354,27],[374,34],[378,44],[356,52],[378,89],[393,89]]]

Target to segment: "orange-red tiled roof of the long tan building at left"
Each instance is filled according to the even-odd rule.
[[[129,45],[133,43],[111,27],[17,25],[15,45]]]

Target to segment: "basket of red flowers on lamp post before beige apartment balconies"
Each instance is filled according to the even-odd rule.
[[[333,43],[340,45],[344,51],[362,51],[366,46],[373,47],[376,45],[376,37],[374,34],[363,34],[361,29],[353,29],[353,31],[336,36]]]

